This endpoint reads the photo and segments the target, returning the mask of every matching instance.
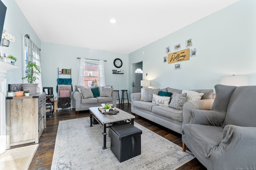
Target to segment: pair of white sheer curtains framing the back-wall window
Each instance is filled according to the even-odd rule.
[[[84,64],[85,63],[99,63],[99,86],[105,86],[105,71],[104,71],[104,61],[100,60],[96,62],[95,60],[80,58],[79,72],[78,72],[78,86],[84,86]]]

